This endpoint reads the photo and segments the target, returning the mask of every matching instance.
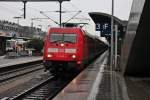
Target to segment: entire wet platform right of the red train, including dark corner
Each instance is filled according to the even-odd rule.
[[[108,53],[90,64],[53,100],[150,100],[150,79],[110,71]]]

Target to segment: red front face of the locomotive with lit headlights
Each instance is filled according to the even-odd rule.
[[[51,73],[78,70],[81,64],[82,41],[78,30],[69,28],[50,29],[44,45],[44,65]]]

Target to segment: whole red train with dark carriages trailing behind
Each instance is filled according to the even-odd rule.
[[[104,42],[81,28],[51,28],[44,43],[43,63],[54,75],[79,71],[106,49]]]

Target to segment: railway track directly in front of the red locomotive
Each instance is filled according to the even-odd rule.
[[[50,76],[31,88],[2,100],[52,100],[70,81]]]

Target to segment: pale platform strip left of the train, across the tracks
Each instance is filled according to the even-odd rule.
[[[38,61],[38,60],[42,60],[42,58],[43,58],[42,56],[25,56],[25,57],[17,57],[13,59],[8,59],[5,56],[0,56],[0,68]]]

